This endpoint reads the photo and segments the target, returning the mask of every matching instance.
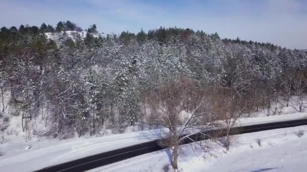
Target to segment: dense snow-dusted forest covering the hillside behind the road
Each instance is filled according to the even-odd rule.
[[[115,35],[100,34],[95,25],[83,31],[70,21],[55,28],[3,27],[0,119],[19,116],[23,131],[50,138],[95,135],[102,128],[121,133],[129,126],[168,126],[154,119],[161,107],[193,114],[205,92],[206,106],[219,109],[215,119],[225,119],[217,114],[227,109],[230,115],[264,109],[274,115],[271,106],[281,99],[288,106],[292,96],[301,112],[306,69],[306,52],[192,29]],[[38,119],[40,129],[33,123]]]

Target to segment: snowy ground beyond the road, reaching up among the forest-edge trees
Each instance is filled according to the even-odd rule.
[[[6,104],[8,101],[9,96],[7,95],[5,97]],[[297,113],[298,107],[295,105],[295,98],[291,102],[294,103],[290,103],[289,107],[286,107],[284,103],[278,103],[275,116],[267,117],[267,111],[262,110],[258,113],[251,114],[251,118],[238,120],[238,125],[307,118],[307,113]],[[1,104],[0,108],[2,109]],[[272,106],[272,109],[275,109],[275,107]],[[306,110],[307,108],[303,107],[303,112]],[[99,137],[97,135],[91,137],[82,136],[81,138],[74,137],[67,140],[46,139],[36,137],[32,133],[34,129],[40,130],[40,132],[43,132],[45,129],[45,122],[44,120],[40,120],[40,117],[31,121],[30,125],[33,125],[31,131],[23,132],[21,116],[13,116],[12,109],[9,106],[2,115],[3,117],[0,118],[0,128],[6,128],[0,132],[0,171],[18,171],[18,169],[32,171],[48,165],[63,163],[100,152],[156,140],[163,135],[159,130],[133,132],[135,131],[133,128],[128,128],[125,134],[110,135],[108,132],[101,132],[103,135],[99,135]],[[271,115],[273,114],[271,113]]]

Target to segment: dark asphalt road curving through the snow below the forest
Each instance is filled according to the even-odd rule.
[[[251,133],[251,132],[258,132],[258,131],[265,131],[265,130],[272,130],[272,129],[279,129],[279,128],[288,128],[288,127],[295,127],[300,125],[307,125],[307,119],[301,120],[293,120],[293,121],[285,121],[285,122],[274,122],[268,124],[258,124],[258,125],[251,125],[251,126],[243,126],[243,127],[234,127],[231,129],[231,134],[244,134],[244,133]],[[223,136],[225,132],[216,131],[208,131],[207,134],[211,135],[214,133],[219,133],[218,136]],[[194,138],[198,140],[208,139],[203,138],[198,135],[195,135]],[[164,149],[159,145],[161,140],[150,141],[142,144],[137,144],[117,150],[112,150],[104,153],[99,153],[96,155],[84,157],[81,159],[73,160],[70,162],[65,162],[62,164],[58,164],[55,166],[49,166],[43,168],[41,172],[54,172],[54,171],[85,171],[89,169],[93,169],[99,166],[104,166],[110,163],[118,162],[124,159],[128,159],[134,156],[138,156],[145,153],[154,152],[157,150]],[[182,144],[189,143],[189,140],[186,139]]]

